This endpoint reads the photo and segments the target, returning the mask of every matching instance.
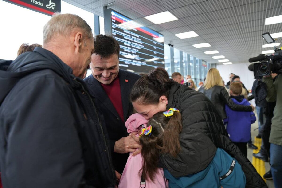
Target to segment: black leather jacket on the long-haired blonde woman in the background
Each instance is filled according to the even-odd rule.
[[[226,89],[222,86],[216,85],[210,89],[205,89],[204,87],[201,87],[199,89],[199,92],[205,94],[205,96],[207,96],[210,99],[213,105],[215,105],[215,108],[217,109],[221,119],[226,118],[225,104],[227,104],[232,110],[252,112],[251,106],[243,106],[243,105],[235,104],[232,101],[232,99],[229,97],[229,94],[226,91]]]

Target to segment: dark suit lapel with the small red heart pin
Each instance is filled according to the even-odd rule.
[[[124,112],[124,120],[126,120],[127,118],[127,114],[128,114],[128,109],[129,109],[129,94],[130,94],[130,90],[131,90],[131,85],[132,83],[130,83],[130,79],[127,78],[127,72],[120,69],[118,76],[120,79],[120,91],[121,91],[121,95],[122,95],[122,108],[123,108],[123,112]]]

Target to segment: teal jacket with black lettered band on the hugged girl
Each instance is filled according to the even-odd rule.
[[[164,169],[164,175],[170,188],[244,188],[246,185],[241,165],[221,148],[217,148],[208,167],[196,174],[175,178]]]

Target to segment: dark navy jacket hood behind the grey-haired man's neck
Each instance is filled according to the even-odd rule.
[[[43,69],[53,70],[68,82],[75,77],[72,69],[59,57],[39,47],[21,54],[14,61],[0,61],[0,104],[21,78]]]

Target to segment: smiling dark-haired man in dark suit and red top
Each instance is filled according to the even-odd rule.
[[[139,75],[118,67],[120,46],[111,36],[98,35],[91,57],[92,75],[84,79],[98,110],[103,113],[115,170],[123,172],[129,156],[140,145],[127,133],[124,125],[133,112],[129,93]]]

